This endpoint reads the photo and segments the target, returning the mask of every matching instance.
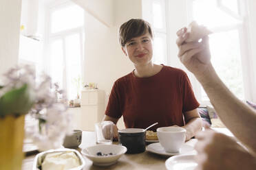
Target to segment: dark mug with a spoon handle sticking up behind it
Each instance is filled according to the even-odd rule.
[[[127,154],[138,154],[145,151],[146,131],[139,128],[118,130],[118,141],[127,147]]]

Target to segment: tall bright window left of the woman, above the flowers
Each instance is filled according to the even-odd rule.
[[[66,90],[67,99],[80,95],[78,82],[82,77],[83,9],[73,3],[64,3],[50,9],[49,72],[53,82]]]

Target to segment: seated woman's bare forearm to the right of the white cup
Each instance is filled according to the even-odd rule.
[[[188,141],[202,130],[202,120],[200,117],[193,118],[184,125],[184,128],[186,129],[186,141]]]

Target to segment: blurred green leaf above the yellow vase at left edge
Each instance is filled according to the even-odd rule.
[[[14,88],[0,98],[0,116],[26,114],[34,104],[34,93],[28,84]]]

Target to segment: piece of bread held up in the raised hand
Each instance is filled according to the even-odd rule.
[[[195,21],[189,24],[187,28],[187,32],[189,32],[189,38],[187,38],[186,42],[198,41],[204,36],[208,36],[212,32],[202,25],[198,25]]]

